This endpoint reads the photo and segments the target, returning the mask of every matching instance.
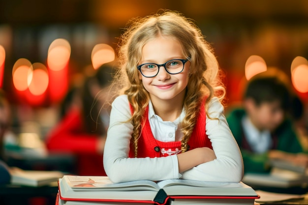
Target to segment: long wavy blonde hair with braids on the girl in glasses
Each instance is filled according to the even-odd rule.
[[[184,99],[186,115],[182,121],[182,152],[187,151],[187,142],[196,124],[200,103],[207,96],[205,106],[217,96],[223,99],[225,88],[220,82],[219,67],[212,47],[204,39],[201,30],[189,19],[176,11],[165,11],[145,18],[136,18],[123,33],[119,44],[120,71],[117,86],[122,84],[119,94],[126,94],[133,107],[129,121],[134,130],[131,143],[137,156],[138,139],[144,121],[144,111],[150,95],[138,78],[137,65],[141,59],[142,48],[158,35],[170,36],[180,42],[183,55],[189,58],[189,80]],[[209,114],[207,113],[207,116]]]

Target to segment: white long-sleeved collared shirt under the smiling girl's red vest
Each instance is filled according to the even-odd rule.
[[[153,107],[149,106],[150,124],[153,120],[151,113],[154,112],[151,109]],[[157,181],[173,178],[222,182],[241,181],[244,173],[243,158],[224,117],[224,108],[217,98],[211,100],[208,112],[211,113],[212,118],[219,119],[206,118],[206,134],[212,143],[216,159],[179,173],[177,155],[128,158],[133,125],[125,121],[131,117],[131,112],[127,96],[118,96],[112,103],[110,125],[104,148],[103,161],[107,175],[114,182],[140,179]],[[180,118],[183,115],[185,115],[184,110]],[[157,118],[154,120],[157,120]],[[157,122],[152,121],[152,123]],[[161,122],[159,123],[161,124]],[[162,124],[164,124],[162,126],[168,127],[168,124],[170,126],[170,122],[163,122]],[[155,128],[157,127],[155,126]],[[165,130],[159,129],[159,134],[166,133]],[[179,138],[176,137],[175,139]]]

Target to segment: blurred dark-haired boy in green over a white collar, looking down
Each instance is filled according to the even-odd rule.
[[[252,77],[246,86],[243,108],[227,115],[239,144],[245,173],[269,172],[270,159],[287,160],[306,166],[308,157],[288,118],[292,92],[285,76],[270,70]]]

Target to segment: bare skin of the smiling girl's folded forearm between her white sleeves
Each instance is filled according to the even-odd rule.
[[[199,164],[213,161],[216,155],[209,147],[198,147],[184,153],[178,154],[179,172],[182,173]]]

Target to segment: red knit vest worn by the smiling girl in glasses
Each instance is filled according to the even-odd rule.
[[[133,108],[130,105],[130,111],[133,113]],[[142,129],[141,136],[138,140],[138,155],[137,157],[164,157],[172,154],[181,153],[181,141],[178,142],[161,142],[154,138],[151,131],[149,122],[149,106],[146,108],[145,113],[145,125]],[[197,122],[191,137],[188,141],[188,148],[194,149],[197,147],[210,147],[212,144],[210,139],[205,134],[206,113],[204,105],[200,106],[199,114],[197,115]],[[129,157],[135,157],[134,147],[130,143]]]

